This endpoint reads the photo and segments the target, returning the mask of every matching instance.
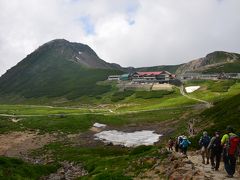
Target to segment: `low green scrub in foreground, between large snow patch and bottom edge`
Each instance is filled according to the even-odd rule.
[[[83,163],[89,174],[81,179],[132,179],[132,175],[137,175],[153,165],[151,163],[137,164],[139,158],[158,157],[164,159],[167,157],[167,152],[158,152],[159,148],[157,146],[139,146],[131,149],[119,146],[77,147],[53,143],[40,149],[37,153],[51,151],[56,161],[67,160]]]

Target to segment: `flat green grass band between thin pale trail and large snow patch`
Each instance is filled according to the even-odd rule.
[[[40,130],[46,132],[79,133],[86,132],[95,122],[113,127],[128,124],[159,123],[178,119],[187,108],[153,110],[126,114],[78,114],[78,115],[45,115],[18,117],[17,123],[10,117],[0,117],[0,134],[12,131]],[[189,108],[188,108],[189,109]]]

